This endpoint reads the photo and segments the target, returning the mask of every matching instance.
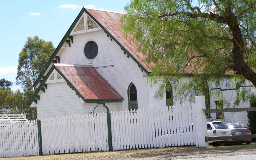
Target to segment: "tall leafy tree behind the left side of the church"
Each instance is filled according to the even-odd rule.
[[[33,96],[33,83],[46,65],[55,47],[51,41],[44,41],[38,36],[28,37],[19,55],[16,84],[23,92],[16,91],[9,96],[7,106],[13,112],[22,112],[28,119],[36,119],[36,110],[29,108],[28,101]]]

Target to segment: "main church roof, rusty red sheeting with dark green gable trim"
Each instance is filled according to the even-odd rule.
[[[51,58],[44,66],[44,69],[41,71],[39,77],[36,79],[35,83],[33,84],[34,87],[36,87],[39,81],[43,78],[44,73],[47,71],[47,68],[54,60],[60,48],[65,43],[65,40],[68,38],[76,23],[79,21],[79,18],[84,12],[104,30],[108,37],[113,39],[120,46],[120,48],[124,50],[124,53],[127,54],[128,57],[131,57],[138,64],[142,71],[145,71],[145,73],[147,74],[151,72],[151,66],[153,66],[153,63],[148,65],[144,62],[145,55],[137,52],[137,46],[132,43],[132,39],[129,36],[125,37],[124,32],[119,28],[119,19],[123,14],[96,9],[85,9],[83,7],[72,25],[69,27],[62,40],[60,41],[60,44],[55,49]]]

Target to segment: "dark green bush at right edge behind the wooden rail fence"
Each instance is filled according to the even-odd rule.
[[[256,96],[252,95],[250,98],[250,106],[256,107]],[[251,130],[252,134],[256,134],[256,112],[247,112],[248,117],[248,127]]]

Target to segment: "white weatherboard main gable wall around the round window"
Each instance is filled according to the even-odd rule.
[[[88,60],[84,55],[84,45],[93,40],[98,45],[98,55]],[[138,64],[127,58],[116,42],[111,41],[103,31],[73,35],[74,43],[59,52],[60,63],[92,65],[124,98],[123,108],[128,109],[127,89],[132,82],[137,89],[138,108],[148,107],[148,81],[143,77]],[[153,97],[152,97],[153,98]]]

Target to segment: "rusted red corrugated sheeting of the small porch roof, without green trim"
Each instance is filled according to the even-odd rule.
[[[55,67],[84,99],[123,99],[92,66],[55,64]]]

